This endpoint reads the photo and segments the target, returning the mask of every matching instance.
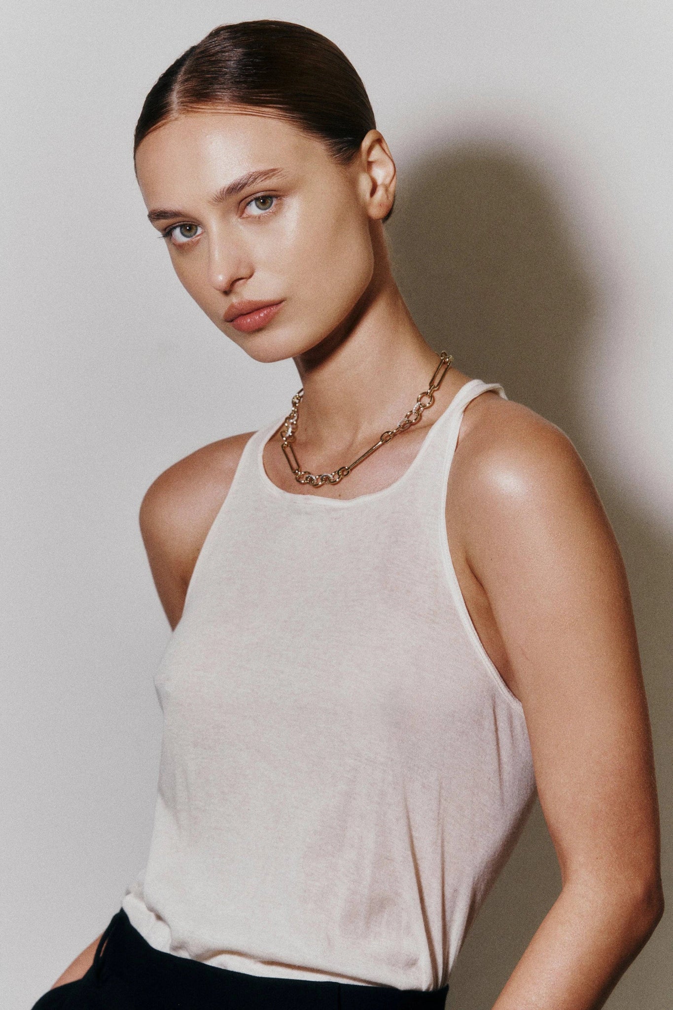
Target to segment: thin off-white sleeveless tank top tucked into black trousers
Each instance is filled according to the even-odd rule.
[[[293,494],[245,444],[156,675],[146,868],[155,948],[250,975],[433,990],[535,796],[520,701],[451,562],[445,501],[473,379],[394,484]]]

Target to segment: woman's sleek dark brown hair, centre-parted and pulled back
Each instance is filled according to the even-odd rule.
[[[133,156],[165,120],[213,105],[289,119],[343,164],[376,126],[355,68],[329,38],[290,21],[241,21],[213,28],[161,74],[143,103]]]

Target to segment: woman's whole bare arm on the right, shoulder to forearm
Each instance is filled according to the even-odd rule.
[[[598,1010],[663,911],[629,587],[571,442],[488,401],[456,449],[453,508],[524,706],[562,879],[493,1010]]]

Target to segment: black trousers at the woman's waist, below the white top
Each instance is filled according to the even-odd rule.
[[[79,982],[49,990],[33,1010],[443,1010],[432,992],[303,979],[265,979],[155,950],[120,909]]]

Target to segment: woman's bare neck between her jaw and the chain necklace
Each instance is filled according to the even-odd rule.
[[[334,447],[357,444],[372,432],[378,437],[412,408],[437,367],[437,354],[395,283],[384,245],[376,252],[374,276],[351,317],[295,358],[304,387],[300,442]]]

